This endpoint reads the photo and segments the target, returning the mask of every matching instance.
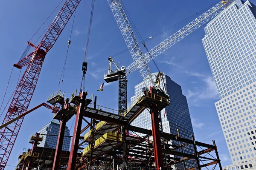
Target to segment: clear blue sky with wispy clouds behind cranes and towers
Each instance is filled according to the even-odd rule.
[[[6,90],[12,65],[18,61],[26,48],[26,41],[32,37],[60,1],[61,0],[44,0],[44,3],[42,3],[42,1],[35,0],[12,0],[1,2],[1,100]],[[151,35],[217,2],[216,0],[183,0],[182,3],[181,1],[174,0],[123,0],[143,39],[151,37]],[[255,3],[255,0],[251,2]],[[62,4],[63,3],[61,3],[61,5]],[[31,42],[34,43],[47,28],[60,7],[61,6],[59,6],[49,20],[47,20]],[[46,56],[29,108],[46,102],[47,97],[59,89],[64,91],[67,97],[69,97],[73,91],[79,89],[89,12],[90,1],[82,0],[76,11],[64,83],[58,86],[73,18],[67,24],[54,47]],[[153,48],[190,21],[191,20],[186,21],[148,40],[146,42],[148,49]],[[188,99],[196,140],[212,143],[212,140],[215,139],[224,167],[227,164],[231,164],[231,160],[214,106],[214,103],[218,101],[219,98],[201,42],[203,37],[204,29],[201,27],[157,57],[155,62],[157,62],[161,71],[164,71],[171,79],[181,85],[183,94],[187,96]],[[36,45],[38,45],[38,43],[36,43]],[[141,48],[143,52],[145,52],[145,48]],[[123,49],[126,49],[126,45],[107,1],[96,0],[90,35],[88,70],[85,75],[85,86],[89,96],[91,94],[98,96],[98,105],[117,109],[117,82],[108,85],[105,83],[103,92],[97,92],[97,89],[99,85],[104,82],[104,73],[108,71],[108,56],[114,55]],[[128,66],[132,62],[131,55],[128,51],[115,57],[114,60],[115,62],[122,62],[119,65],[125,66]],[[151,72],[157,71],[153,62],[149,63],[149,67]],[[24,71],[24,69],[25,68],[23,68],[22,71]],[[19,70],[14,68],[4,105],[6,105],[6,102],[15,88],[18,74]],[[130,97],[134,95],[134,85],[139,82],[141,82],[141,78],[137,71],[128,75],[128,101]],[[3,116],[5,113],[6,111],[4,111]],[[3,116],[0,117],[0,121],[3,120]],[[52,113],[46,108],[40,108],[25,117],[9,158],[8,165],[17,164],[18,154],[23,151],[23,148],[31,147],[31,144],[29,144],[31,134],[40,130],[41,127],[50,122],[52,118]],[[67,125],[71,127],[72,122],[73,118]],[[73,126],[70,131],[73,132]],[[13,167],[6,167],[6,170],[11,169],[13,169]]]

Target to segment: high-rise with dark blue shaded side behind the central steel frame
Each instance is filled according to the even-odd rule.
[[[152,74],[155,79],[157,73]],[[140,95],[143,88],[151,85],[151,81],[147,79],[145,82],[141,82],[135,85],[135,95],[131,97],[131,102],[134,101],[135,97]],[[189,107],[187,104],[186,96],[182,94],[180,85],[172,81],[172,79],[166,75],[163,76],[163,81],[160,83],[160,88],[167,91],[170,96],[170,105],[166,107],[166,114],[164,109],[161,111],[163,132],[177,134],[177,129],[180,131],[180,136],[186,139],[191,139],[191,135],[194,135],[192,122],[189,114]],[[151,129],[151,117],[147,110],[144,110],[132,123],[131,125],[141,127],[145,129]],[[139,134],[140,135],[140,134]],[[172,144],[180,145],[177,141],[172,141]],[[194,150],[192,147],[187,147],[184,153],[192,154]],[[191,167],[195,164],[194,161],[186,161],[186,168]],[[183,166],[183,165],[178,165]]]

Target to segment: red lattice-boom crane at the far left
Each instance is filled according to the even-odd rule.
[[[44,58],[55,44],[80,1],[66,0],[39,45],[36,46],[28,42],[30,46],[35,48],[35,51],[21,59],[17,64],[14,64],[19,69],[25,65],[27,65],[27,68],[15,89],[14,97],[2,124],[27,111],[38,82]],[[4,170],[6,167],[22,122],[23,118],[18,119],[0,130],[0,170]]]

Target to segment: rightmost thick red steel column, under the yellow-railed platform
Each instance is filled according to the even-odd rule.
[[[160,139],[160,130],[158,122],[158,111],[157,105],[152,103],[151,108],[151,125],[152,125],[152,137],[153,137],[153,147],[154,147],[154,160],[156,165],[156,170],[163,170],[163,153]]]

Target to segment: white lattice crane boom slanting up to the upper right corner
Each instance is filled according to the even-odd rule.
[[[136,69],[143,68],[145,63],[150,62],[152,59],[154,59],[155,57],[157,57],[158,55],[162,54],[164,51],[172,47],[172,45],[175,45],[177,42],[191,34],[193,31],[195,31],[205,23],[207,23],[213,17],[221,13],[221,11],[223,11],[224,8],[227,7],[233,1],[234,0],[223,0],[215,6],[213,6],[212,8],[210,8],[208,11],[206,11],[201,16],[197,17],[191,23],[181,28],[171,37],[167,38],[166,40],[164,40],[163,42],[149,50],[147,53],[143,55],[143,57],[134,60],[134,62],[126,68],[126,74],[129,74]]]

